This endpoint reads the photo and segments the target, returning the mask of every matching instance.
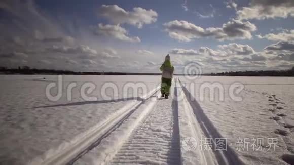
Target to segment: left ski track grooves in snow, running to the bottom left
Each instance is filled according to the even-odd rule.
[[[151,98],[159,90],[159,86],[150,93],[142,97],[140,101],[134,101],[130,105],[124,106],[117,113],[113,114],[99,126],[88,130],[85,135],[75,140],[75,143],[68,145],[62,150],[56,151],[50,157],[35,158],[30,164],[73,164],[88,151],[99,145],[102,139],[107,137],[111,132],[118,128],[145,100]]]

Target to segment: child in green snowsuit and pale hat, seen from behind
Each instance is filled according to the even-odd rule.
[[[165,61],[161,65],[160,70],[162,71],[160,89],[161,97],[168,99],[171,80],[174,72],[174,67],[171,65],[169,54],[165,56]]]

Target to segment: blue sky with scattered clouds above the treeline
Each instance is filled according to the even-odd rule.
[[[294,66],[293,0],[0,2],[0,66],[176,73]]]

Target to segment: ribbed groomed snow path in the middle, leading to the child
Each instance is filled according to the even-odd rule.
[[[176,106],[172,97],[159,99],[110,164],[181,164]]]

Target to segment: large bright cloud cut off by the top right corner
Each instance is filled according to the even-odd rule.
[[[293,0],[252,0],[249,7],[237,11],[238,19],[268,19],[294,17]]]

